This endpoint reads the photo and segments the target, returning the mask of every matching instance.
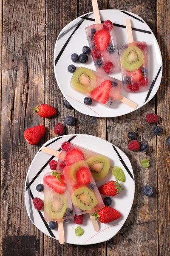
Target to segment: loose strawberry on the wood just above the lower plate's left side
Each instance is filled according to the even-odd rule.
[[[26,129],[26,131],[24,131],[24,138],[29,144],[35,145],[41,140],[44,134],[45,134],[45,126],[37,125],[37,126],[33,126],[31,128]]]

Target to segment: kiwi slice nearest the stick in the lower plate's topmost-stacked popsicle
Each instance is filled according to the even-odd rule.
[[[97,198],[93,191],[86,186],[75,189],[71,194],[72,203],[83,211],[91,211],[97,204]]]

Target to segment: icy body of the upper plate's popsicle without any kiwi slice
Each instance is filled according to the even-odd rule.
[[[113,23],[106,20],[85,30],[96,70],[100,73],[118,71],[120,62]]]

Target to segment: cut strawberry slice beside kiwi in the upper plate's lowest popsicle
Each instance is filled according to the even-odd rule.
[[[102,84],[100,84],[98,87],[92,90],[91,98],[105,104],[108,101],[110,90],[111,90],[111,81],[105,80]]]

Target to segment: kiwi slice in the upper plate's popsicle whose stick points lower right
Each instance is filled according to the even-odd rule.
[[[71,78],[71,85],[80,93],[90,93],[96,87],[96,76],[92,70],[79,67]]]

